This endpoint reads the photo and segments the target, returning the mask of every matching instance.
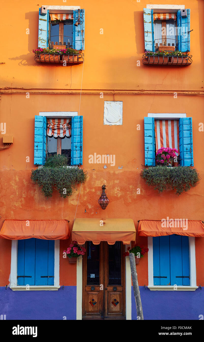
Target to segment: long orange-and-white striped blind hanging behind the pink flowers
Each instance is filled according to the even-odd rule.
[[[156,150],[176,148],[179,154],[179,120],[154,120]]]

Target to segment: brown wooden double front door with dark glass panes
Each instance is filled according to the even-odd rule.
[[[125,246],[86,242],[82,319],[125,319]]]

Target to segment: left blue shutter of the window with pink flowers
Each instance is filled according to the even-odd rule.
[[[155,166],[154,118],[144,117],[144,156],[145,165]]]

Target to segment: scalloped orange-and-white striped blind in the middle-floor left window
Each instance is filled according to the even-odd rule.
[[[47,119],[47,135],[54,138],[71,135],[70,119]]]

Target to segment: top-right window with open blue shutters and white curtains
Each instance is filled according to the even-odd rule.
[[[160,45],[190,51],[190,9],[144,8],[143,15],[145,51],[156,52]]]

